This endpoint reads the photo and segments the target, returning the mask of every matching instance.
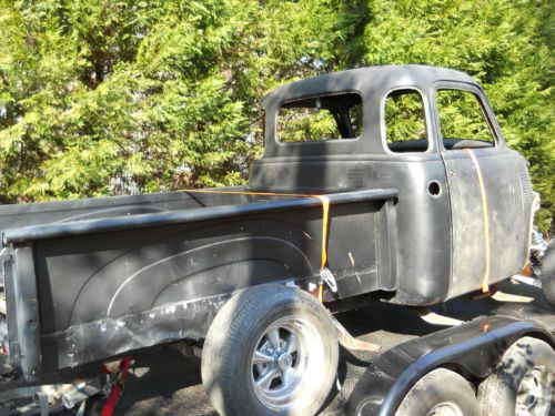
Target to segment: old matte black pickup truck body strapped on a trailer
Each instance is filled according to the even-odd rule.
[[[263,106],[248,186],[0,206],[0,389],[184,339],[220,413],[313,414],[334,305],[441,303],[526,264],[527,164],[471,77],[350,70]]]

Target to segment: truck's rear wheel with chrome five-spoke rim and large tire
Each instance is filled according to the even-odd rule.
[[[255,364],[255,349],[266,361]],[[335,328],[314,297],[263,284],[233,296],[214,318],[202,352],[202,382],[222,416],[314,415],[332,389],[337,357]]]

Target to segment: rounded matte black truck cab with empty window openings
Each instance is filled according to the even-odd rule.
[[[356,69],[284,85],[263,105],[265,151],[252,166],[252,190],[398,190],[387,206],[387,239],[372,240],[389,246],[387,258],[365,258],[369,270],[387,271],[375,286],[394,291],[393,302],[432,304],[486,290],[526,263],[527,163],[507,146],[467,74]]]

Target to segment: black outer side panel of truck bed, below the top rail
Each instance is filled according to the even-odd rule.
[[[379,288],[385,211],[385,201],[332,205],[327,265],[340,291],[327,300]],[[200,341],[235,291],[319,282],[321,244],[321,206],[37,241],[42,368]]]

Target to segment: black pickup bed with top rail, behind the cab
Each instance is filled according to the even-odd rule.
[[[319,282],[317,197],[213,191],[0,207],[10,358],[23,375],[176,339],[201,343],[234,292]],[[327,265],[339,285],[329,300],[394,286],[387,204],[395,195],[327,195]]]

